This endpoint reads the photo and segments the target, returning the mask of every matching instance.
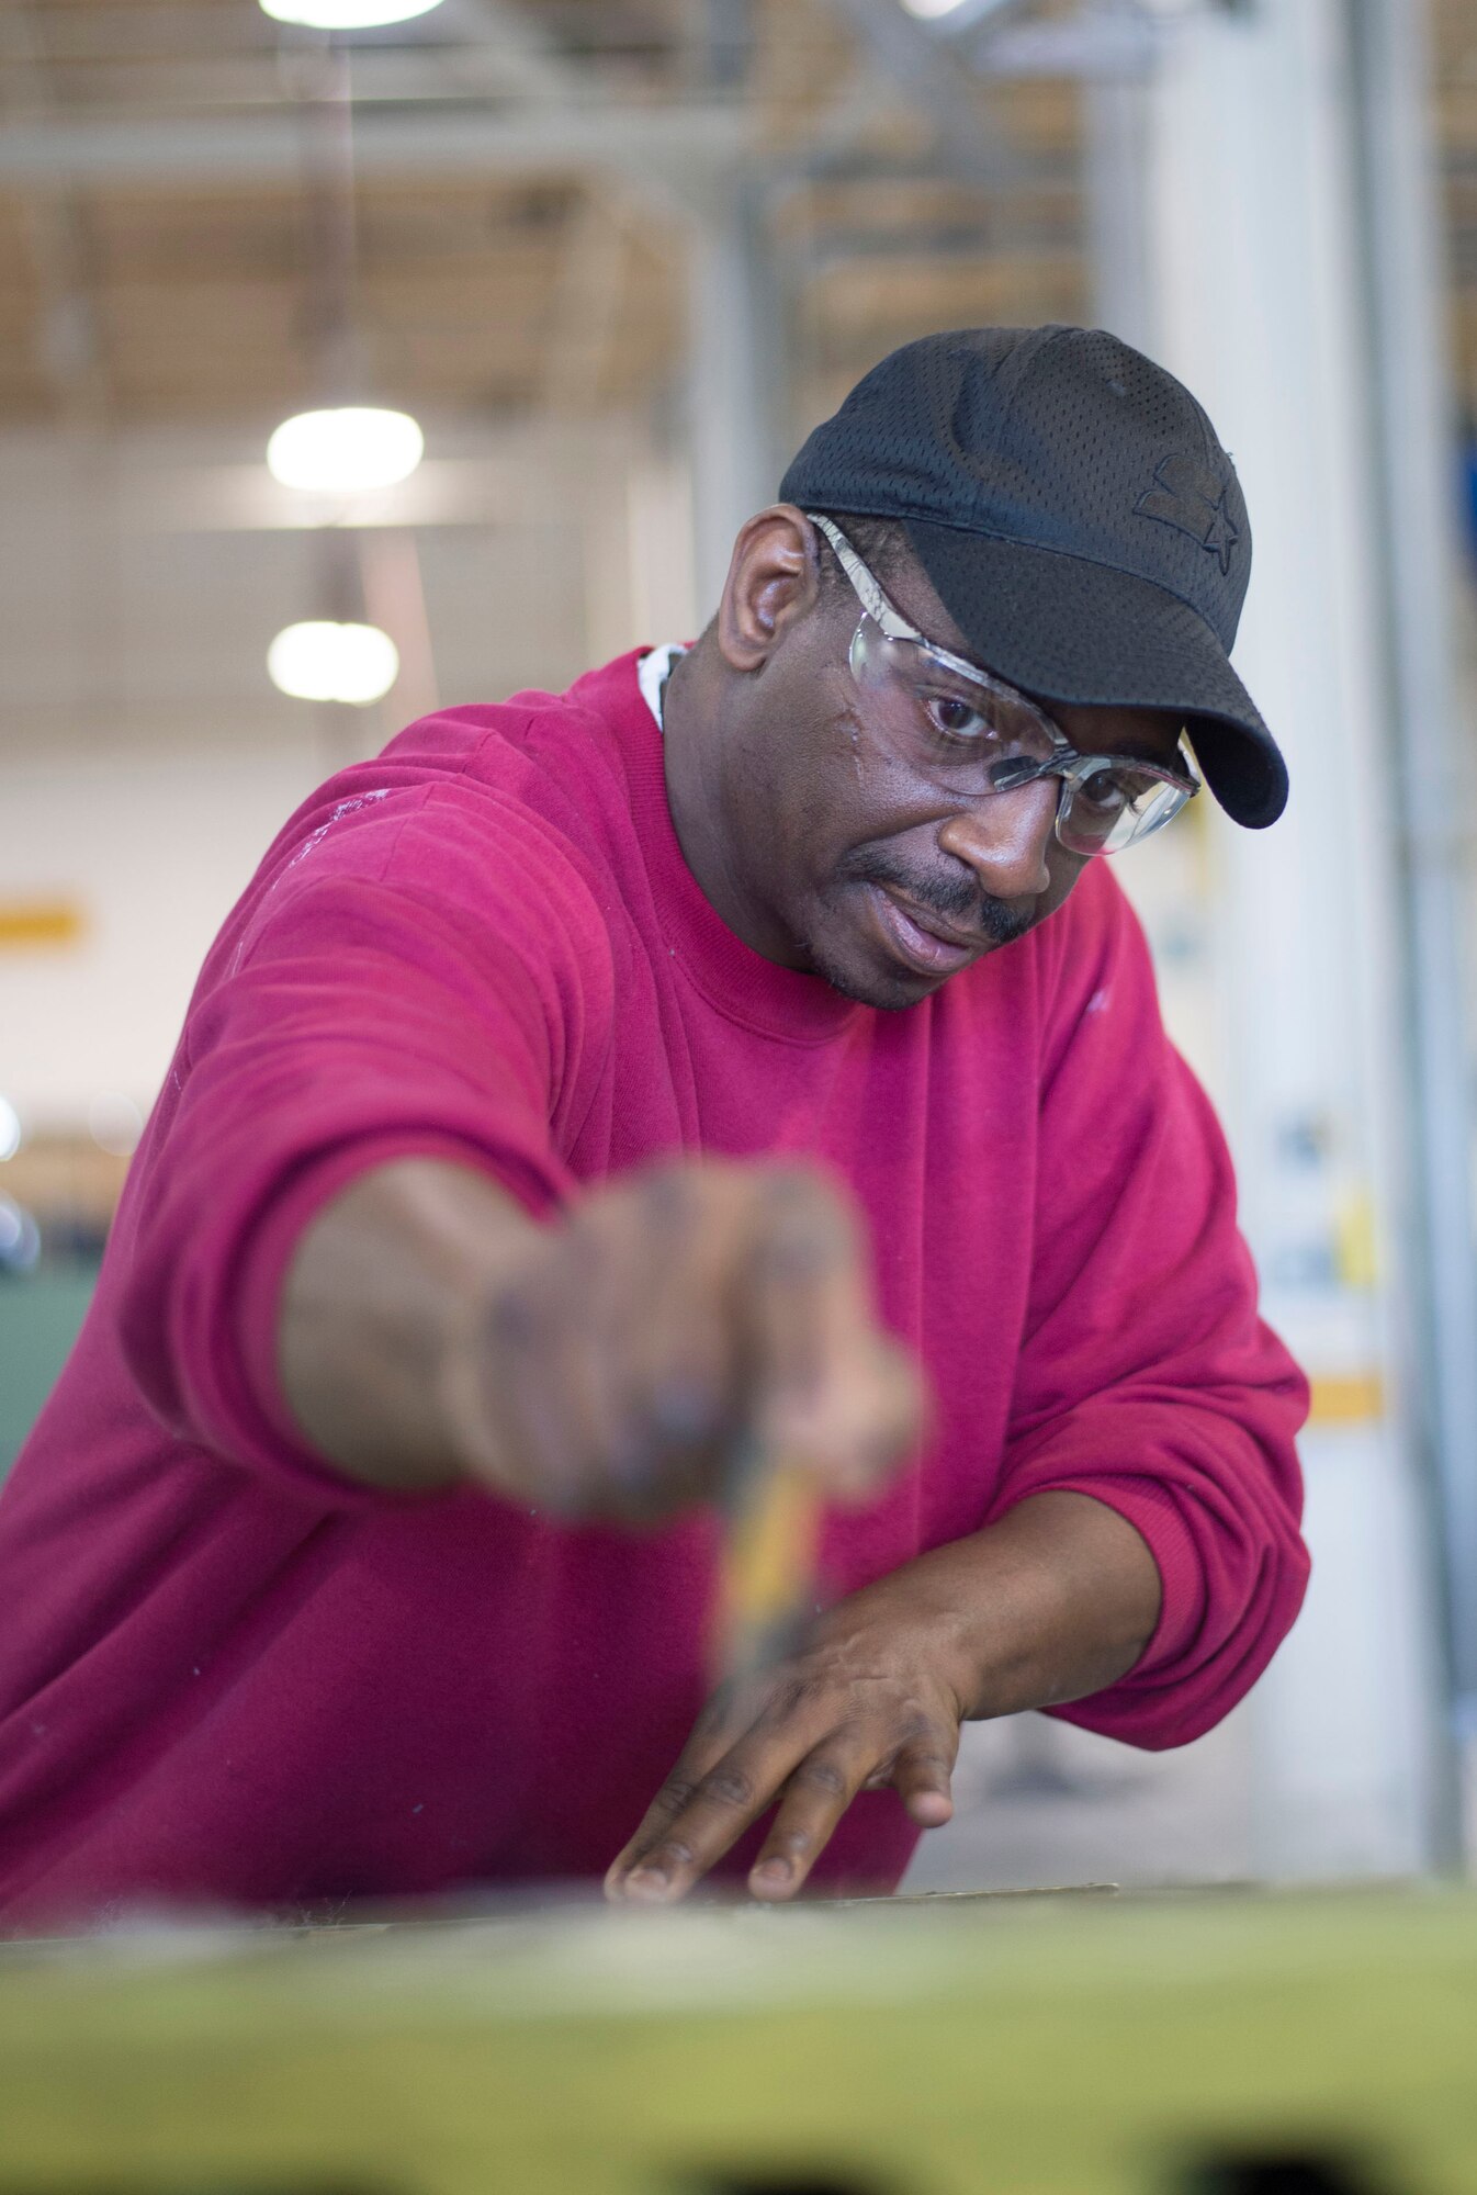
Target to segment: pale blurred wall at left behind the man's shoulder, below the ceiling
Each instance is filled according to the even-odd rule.
[[[399,685],[371,709],[287,700],[266,650],[325,615],[325,544],[263,441],[0,437],[0,904],[81,918],[75,944],[0,950],[0,1095],[33,1124],[86,1124],[99,1091],[151,1102],[217,924],[331,768],[437,700],[557,689],[691,630],[685,476],[628,424],[432,424],[426,476],[345,511],[402,621]]]

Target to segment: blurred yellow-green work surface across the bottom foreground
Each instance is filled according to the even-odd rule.
[[[1299,2184],[1286,2155],[1330,2188],[1477,2188],[1477,1896],[555,1907],[0,1954],[0,2195],[1152,2195]],[[1218,2180],[1233,2158],[1249,2180]]]

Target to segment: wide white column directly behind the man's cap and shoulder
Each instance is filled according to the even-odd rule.
[[[1356,103],[1339,0],[1174,20],[1146,101],[1150,349],[1205,402],[1255,533],[1238,667],[1288,755],[1269,834],[1218,832],[1244,1223],[1315,1374],[1315,1580],[1255,1697],[1258,1859],[1437,1848],[1431,1578],[1398,1302],[1405,1146],[1387,573],[1365,340]]]

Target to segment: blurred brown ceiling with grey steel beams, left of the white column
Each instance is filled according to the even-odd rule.
[[[7,0],[0,426],[340,395],[334,250],[377,402],[661,402],[687,217],[733,191],[775,244],[801,410],[920,327],[1080,318],[1080,101],[1042,31],[1007,26],[974,83],[895,0],[443,0],[342,64],[257,0]]]

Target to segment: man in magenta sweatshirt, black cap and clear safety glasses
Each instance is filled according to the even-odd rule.
[[[413,724],[215,942],[0,1499],[0,1916],[891,1886],[959,1723],[1179,1745],[1304,1383],[1102,858],[1282,757],[1249,529],[1104,334],[893,353],[691,650]],[[704,1699],[715,1497],[830,1506]]]

